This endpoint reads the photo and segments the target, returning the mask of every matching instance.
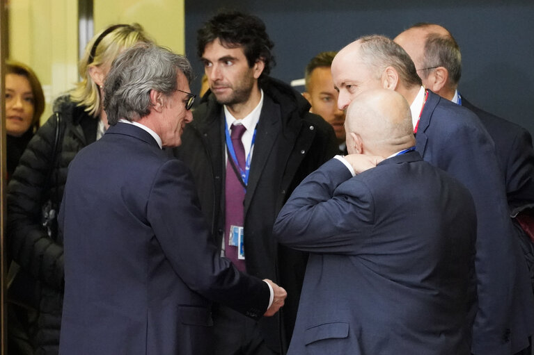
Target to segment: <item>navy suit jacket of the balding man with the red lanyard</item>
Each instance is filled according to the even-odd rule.
[[[430,92],[416,140],[423,159],[463,183],[475,201],[478,311],[472,352],[514,354],[534,333],[534,297],[492,139],[474,113]]]

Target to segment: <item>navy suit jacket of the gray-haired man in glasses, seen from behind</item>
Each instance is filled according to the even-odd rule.
[[[269,288],[217,247],[187,167],[118,123],[72,161],[61,204],[61,354],[212,354],[212,299],[258,318]]]

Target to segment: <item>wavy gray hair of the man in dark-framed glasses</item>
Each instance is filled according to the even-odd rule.
[[[178,70],[191,82],[189,60],[155,44],[139,43],[121,53],[113,60],[104,82],[104,110],[109,124],[148,115],[152,107],[150,90],[173,94]]]

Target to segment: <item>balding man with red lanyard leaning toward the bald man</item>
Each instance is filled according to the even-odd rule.
[[[480,119],[424,88],[406,51],[383,36],[359,38],[339,51],[332,76],[339,108],[372,88],[402,94],[410,104],[416,150],[471,192],[477,213],[478,282],[471,352],[509,355],[526,347],[534,299],[508,213],[503,174]]]

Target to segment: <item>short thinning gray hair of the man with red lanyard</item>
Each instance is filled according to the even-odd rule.
[[[358,39],[360,58],[368,67],[375,69],[377,79],[386,67],[393,67],[400,81],[407,87],[420,86],[421,78],[410,56],[400,45],[383,35],[368,35]]]

